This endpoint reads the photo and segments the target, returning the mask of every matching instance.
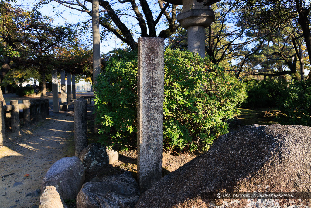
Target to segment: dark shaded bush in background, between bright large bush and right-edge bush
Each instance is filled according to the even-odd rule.
[[[246,82],[248,98],[241,104],[242,108],[266,108],[279,106],[285,99],[286,80],[267,79]]]

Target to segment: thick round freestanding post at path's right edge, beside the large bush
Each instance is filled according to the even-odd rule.
[[[73,103],[75,112],[75,156],[79,156],[88,145],[87,104],[85,99],[77,99]]]

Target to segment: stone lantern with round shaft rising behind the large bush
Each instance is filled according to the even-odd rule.
[[[202,0],[164,0],[171,4],[183,5],[177,21],[188,30],[188,50],[205,56],[204,29],[215,21],[215,14]]]

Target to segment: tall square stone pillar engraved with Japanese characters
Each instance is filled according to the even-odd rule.
[[[162,177],[164,39],[138,38],[137,174],[142,192]]]

